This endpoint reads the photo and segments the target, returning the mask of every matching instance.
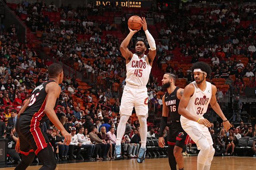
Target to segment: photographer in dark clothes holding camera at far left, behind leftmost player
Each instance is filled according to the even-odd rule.
[[[15,127],[7,126],[3,137],[8,140],[7,153],[14,159],[15,163],[18,163],[18,161],[20,161],[20,156],[15,150],[16,142],[18,140],[18,134],[16,133]]]

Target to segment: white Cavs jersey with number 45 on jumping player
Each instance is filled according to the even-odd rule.
[[[131,61],[126,64],[125,82],[130,85],[146,87],[151,68],[147,55],[139,58],[136,54],[133,54]]]

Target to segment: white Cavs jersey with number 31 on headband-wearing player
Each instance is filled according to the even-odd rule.
[[[203,114],[207,111],[212,98],[212,84],[210,82],[206,82],[205,91],[201,91],[195,81],[191,83],[194,85],[195,91],[193,96],[190,97],[186,110],[194,117],[202,118]],[[188,120],[184,116],[181,116],[181,119]]]

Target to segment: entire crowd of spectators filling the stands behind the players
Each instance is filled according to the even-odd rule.
[[[48,134],[52,143],[57,161],[75,159],[111,159],[116,143],[116,127],[120,116],[112,116],[112,112],[119,112],[120,98],[112,90],[113,83],[125,85],[125,61],[119,52],[119,41],[109,30],[116,31],[117,25],[102,21],[92,20],[89,14],[103,15],[105,11],[114,11],[113,6],[79,6],[73,9],[71,5],[57,7],[54,3],[49,6],[42,1],[28,3],[25,1],[17,7],[17,14],[27,14],[26,24],[32,32],[41,31],[42,48],[49,48],[53,56],[62,62],[73,65],[78,63],[78,70],[88,73],[90,76],[105,77],[106,91],[100,85],[94,85],[87,91],[78,88],[79,84],[75,75],[66,76],[63,79],[62,93],[59,97],[59,106],[56,114],[63,126],[72,134],[72,143],[65,146],[59,130],[52,127],[47,121],[44,131]],[[50,21],[45,12],[60,12],[59,21]],[[180,56],[174,56],[172,52],[178,51],[182,57],[191,58],[191,62],[209,58],[212,67],[212,78],[225,78],[226,84],[231,88],[243,91],[244,76],[250,78],[248,85],[255,85],[256,53],[255,53],[255,7],[238,5],[225,6],[224,4],[214,9],[200,9],[194,12],[185,6],[180,10],[169,10],[168,7],[158,4],[152,5],[149,11],[154,11],[152,17],[156,24],[163,27],[159,29],[160,38],[164,39],[157,46],[158,62],[166,63]],[[166,12],[168,11],[168,13]],[[238,17],[239,16],[239,17]],[[252,21],[242,25],[243,21]],[[50,61],[44,61],[28,44],[17,41],[16,26],[12,24],[6,32],[0,33],[1,60],[0,60],[0,135],[3,136],[5,123],[7,126],[15,125],[16,113],[24,100],[29,99],[29,94],[34,87],[47,80],[47,66]],[[85,34],[88,36],[79,36]],[[143,37],[140,33],[138,37]],[[133,42],[129,49],[133,49]],[[244,55],[248,58],[248,65],[237,61],[234,55]],[[89,60],[89,59],[93,60]],[[191,71],[187,75],[178,65],[169,65],[166,72],[176,73],[179,78],[187,78],[192,81]],[[235,75],[235,81],[230,75]],[[123,79],[123,81],[120,81]],[[147,85],[150,106],[156,111],[162,108],[161,86],[157,78],[150,75]],[[218,91],[218,100],[223,98]],[[76,98],[81,98],[79,103]],[[98,104],[93,99],[97,98]],[[114,103],[110,100],[115,98]],[[111,108],[109,112],[107,107]],[[13,113],[12,113],[13,112]],[[12,123],[11,123],[12,121]],[[217,124],[216,124],[217,125]],[[242,127],[223,132],[214,130],[217,138],[215,146],[225,150],[224,154],[234,153],[237,133],[247,136],[255,136],[255,128]],[[216,130],[216,131],[215,131]],[[159,128],[149,128],[148,137],[157,137]],[[165,136],[169,129],[166,127]],[[238,132],[237,132],[238,131]],[[211,131],[212,133],[212,131]],[[6,135],[6,133],[5,133]],[[221,136],[222,138],[220,138]],[[225,136],[225,137],[224,137]],[[10,133],[10,140],[16,141],[15,128]],[[15,146],[15,145],[12,145]],[[218,146],[218,147],[219,147]],[[126,124],[125,136],[122,139],[122,153],[124,157],[134,158],[140,147],[139,123],[137,120]],[[13,147],[11,149],[14,149]],[[9,150],[11,150],[9,149]],[[254,147],[255,149],[255,147]],[[13,151],[13,150],[12,150]],[[18,155],[9,152],[12,158],[19,161]],[[80,157],[82,155],[82,157]]]

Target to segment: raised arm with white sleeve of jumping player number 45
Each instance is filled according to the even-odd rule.
[[[147,30],[147,21],[146,21],[145,17],[142,17],[142,21],[140,21],[140,24],[142,24],[143,30],[145,31],[145,34],[147,36],[147,42],[150,46],[148,58],[149,58],[149,63],[152,66],[152,63],[156,57],[156,42],[155,42],[155,39],[153,38],[153,36]]]

